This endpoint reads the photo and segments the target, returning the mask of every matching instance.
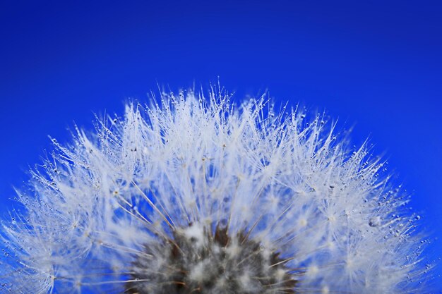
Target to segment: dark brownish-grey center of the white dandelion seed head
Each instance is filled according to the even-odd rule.
[[[280,254],[245,231],[198,224],[146,245],[131,273],[127,294],[294,294],[297,284]]]

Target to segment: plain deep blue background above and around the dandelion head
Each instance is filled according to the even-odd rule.
[[[0,212],[47,135],[64,142],[73,121],[90,129],[92,113],[121,114],[157,82],[220,76],[238,100],[270,90],[355,125],[356,144],[370,135],[441,238],[441,3],[3,0]],[[436,240],[431,260],[441,251]]]

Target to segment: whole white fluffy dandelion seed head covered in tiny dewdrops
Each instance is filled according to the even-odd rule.
[[[423,293],[418,216],[324,116],[163,93],[54,141],[3,222],[0,292]]]

